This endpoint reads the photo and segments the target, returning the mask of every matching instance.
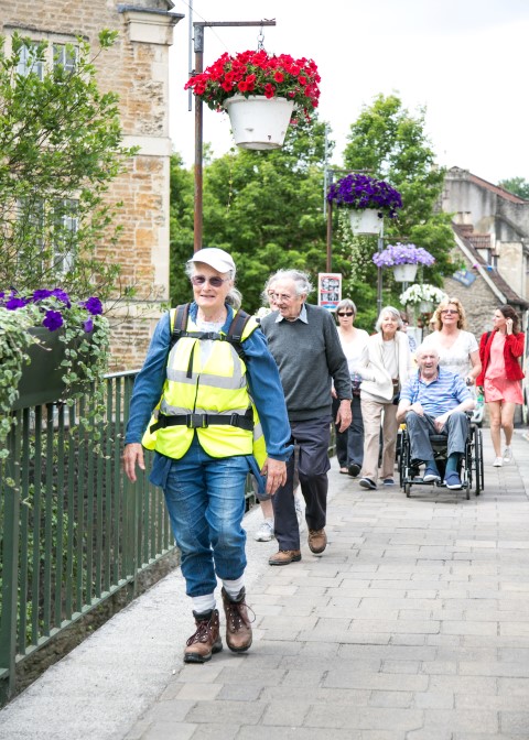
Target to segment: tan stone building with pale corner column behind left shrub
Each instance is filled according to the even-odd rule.
[[[126,173],[114,183],[110,202],[123,202],[122,233],[101,260],[119,262],[123,285],[134,286],[134,303],[112,317],[114,369],[138,368],[144,358],[161,304],[169,298],[169,47],[173,26],[171,0],[0,0],[0,34],[17,31],[50,44],[82,36],[97,46],[98,33],[118,32],[116,44],[96,59],[101,91],[120,97],[127,146],[139,146]]]

